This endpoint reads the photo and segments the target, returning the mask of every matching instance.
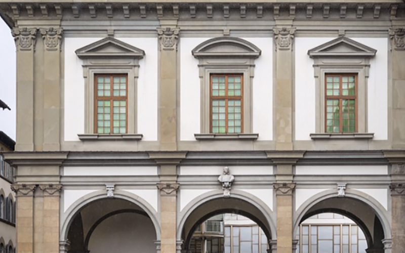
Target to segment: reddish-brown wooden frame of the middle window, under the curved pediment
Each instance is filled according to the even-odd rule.
[[[228,78],[230,76],[240,77],[240,96],[228,96]],[[213,96],[213,77],[225,77],[225,96]],[[240,99],[240,133],[228,133],[228,101]],[[221,134],[243,134],[244,133],[244,74],[243,73],[212,73],[210,74],[210,133],[212,128],[212,102],[214,100],[225,100],[225,133]],[[220,134],[220,133],[216,133]]]

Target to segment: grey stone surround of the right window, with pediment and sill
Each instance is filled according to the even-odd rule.
[[[373,133],[368,133],[367,129],[367,86],[370,69],[370,57],[373,57],[377,52],[374,49],[368,48],[357,43],[354,40],[346,37],[339,37],[333,41],[343,41],[353,44],[357,47],[364,47],[368,52],[352,53],[352,52],[316,52],[316,47],[309,50],[308,55],[314,60],[314,77],[315,77],[315,131],[310,134],[311,139],[372,139]],[[326,48],[327,49],[327,48]],[[322,49],[325,50],[325,49]],[[312,51],[312,52],[311,52]],[[356,74],[357,75],[357,133],[326,133],[325,131],[325,76],[326,74]]]

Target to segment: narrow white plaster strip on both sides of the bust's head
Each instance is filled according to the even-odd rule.
[[[231,166],[232,175],[273,175],[273,166]],[[223,166],[181,166],[181,176],[192,175],[221,175]]]

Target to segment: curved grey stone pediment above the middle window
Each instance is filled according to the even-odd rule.
[[[204,41],[192,51],[195,58],[258,58],[261,50],[249,41],[236,37],[217,37]]]

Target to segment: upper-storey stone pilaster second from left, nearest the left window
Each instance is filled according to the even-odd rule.
[[[44,151],[60,150],[60,47],[62,28],[40,29],[44,40]]]

